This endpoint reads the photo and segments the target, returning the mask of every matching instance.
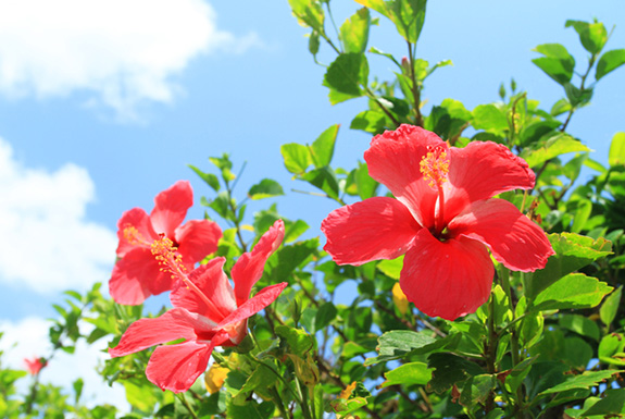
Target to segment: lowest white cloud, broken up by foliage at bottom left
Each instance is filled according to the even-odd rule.
[[[49,328],[49,321],[35,317],[18,322],[0,320],[0,331],[3,332],[0,350],[4,352],[2,363],[13,369],[25,370],[24,358],[49,356],[51,350]],[[114,383],[110,387],[96,372],[96,366],[108,359],[108,355],[102,352],[107,347],[104,341],[100,340],[92,345],[79,341],[73,355],[57,352],[50,363],[41,370],[41,382],[62,386],[65,389],[65,394],[73,395],[72,383],[82,378],[85,383],[82,400],[87,406],[108,403],[128,411],[129,405],[123,386]],[[24,394],[28,380],[20,380],[17,384],[20,384],[18,391]]]

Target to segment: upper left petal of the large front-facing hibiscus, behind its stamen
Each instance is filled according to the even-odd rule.
[[[434,225],[438,196],[421,173],[421,160],[427,155],[428,146],[448,148],[434,133],[418,126],[401,125],[396,131],[375,136],[364,152],[368,174],[386,185],[424,227]]]

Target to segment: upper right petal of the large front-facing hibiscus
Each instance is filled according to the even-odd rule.
[[[470,202],[534,187],[535,175],[525,160],[500,144],[473,141],[450,152],[449,182],[443,184],[446,221]]]

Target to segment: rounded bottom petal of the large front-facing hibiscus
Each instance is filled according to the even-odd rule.
[[[454,320],[488,300],[493,273],[482,243],[465,237],[439,242],[422,229],[405,254],[399,281],[418,310]]]

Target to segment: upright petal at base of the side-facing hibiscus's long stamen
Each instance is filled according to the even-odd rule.
[[[216,323],[236,310],[233,287],[223,270],[225,261],[222,257],[211,259],[189,273],[189,281],[203,293],[203,297],[187,284],[180,283],[170,294],[172,305],[201,313]],[[210,305],[204,297],[211,301]]]

